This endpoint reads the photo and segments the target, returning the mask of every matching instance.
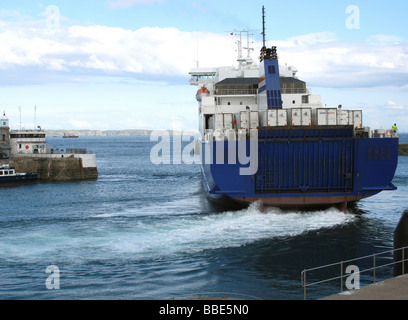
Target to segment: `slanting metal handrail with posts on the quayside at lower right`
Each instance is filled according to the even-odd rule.
[[[402,247],[402,248],[398,248],[398,249],[393,249],[393,250],[388,250],[388,251],[384,251],[384,252],[380,252],[380,253],[376,253],[376,254],[372,254],[372,255],[368,255],[368,256],[364,256],[364,257],[359,257],[359,258],[355,258],[355,259],[350,259],[350,260],[346,260],[346,261],[340,261],[337,263],[332,263],[332,264],[327,264],[324,266],[320,266],[320,267],[316,267],[316,268],[310,268],[310,269],[305,269],[301,272],[301,284],[303,287],[303,298],[304,300],[307,300],[307,289],[312,287],[312,286],[317,286],[320,284],[324,284],[324,283],[328,283],[328,282],[333,282],[333,281],[337,281],[340,287],[340,293],[344,292],[344,283],[345,280],[347,280],[350,276],[352,275],[361,275],[363,273],[368,273],[371,277],[372,283],[376,283],[378,280],[378,271],[382,268],[386,268],[386,267],[391,267],[391,266],[395,266],[397,264],[401,265],[401,270],[402,270],[402,275],[408,273],[408,270],[405,270],[406,268],[404,268],[404,265],[406,262],[408,262],[408,254],[406,253],[406,250],[408,250],[408,247]],[[393,254],[395,257],[396,253],[399,253],[401,251],[401,259],[395,261],[395,259],[393,259],[393,262],[388,262],[388,263],[384,263],[384,264],[378,264],[379,260],[385,259],[385,260],[390,260],[391,257],[390,255]],[[353,263],[355,264],[356,262],[361,262],[361,261],[368,261],[369,266],[365,269],[358,269],[359,271],[355,272],[355,273],[345,273],[345,270],[347,269],[347,267],[352,266]],[[361,262],[362,264],[363,262]],[[367,262],[366,262],[367,264]],[[354,265],[357,266],[358,265]],[[313,280],[313,282],[308,283],[308,279],[309,279],[309,275],[312,272],[319,272],[319,273],[323,273],[323,270],[328,270],[330,268],[335,268],[338,270],[338,275],[335,275],[333,277],[327,278],[327,279],[323,279],[323,280]],[[326,271],[327,272],[327,271]],[[314,276],[314,279],[316,279],[316,276]],[[384,280],[384,279],[383,279]]]

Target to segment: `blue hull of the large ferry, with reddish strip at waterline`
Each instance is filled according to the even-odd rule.
[[[238,142],[203,142],[204,189],[210,199],[223,203],[260,201],[285,208],[344,208],[348,202],[395,190],[398,138],[353,135],[352,127],[341,126],[260,128],[257,171],[251,175],[240,173],[250,164],[228,161],[229,149],[237,149]],[[250,142],[245,143],[250,150]]]

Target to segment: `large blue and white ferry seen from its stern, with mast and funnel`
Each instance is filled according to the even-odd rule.
[[[264,9],[259,63],[251,58],[250,32],[234,33],[237,67],[190,72],[190,84],[199,87],[201,171],[210,199],[345,210],[396,190],[395,132],[364,126],[361,110],[323,107],[298,70],[280,66],[277,48],[265,46]]]

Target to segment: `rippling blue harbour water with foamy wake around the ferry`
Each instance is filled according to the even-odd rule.
[[[408,157],[399,157],[397,191],[346,213],[261,212],[256,205],[231,210],[208,202],[199,166],[154,165],[149,137],[48,143],[95,152],[99,178],[0,190],[0,299],[169,299],[207,292],[302,299],[302,270],[393,249],[393,231],[407,208]],[[58,288],[47,285],[50,266],[59,271]],[[392,277],[392,267],[376,276]],[[308,297],[339,290],[329,284],[310,289]]]

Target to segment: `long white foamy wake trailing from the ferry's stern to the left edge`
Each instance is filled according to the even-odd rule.
[[[180,200],[181,201],[181,200]],[[172,204],[180,205],[180,203]],[[163,208],[146,208],[117,216],[103,215],[86,225],[29,230],[3,238],[3,257],[62,261],[78,259],[146,259],[203,250],[240,247],[265,239],[295,237],[333,228],[354,220],[336,209],[317,212],[283,212],[256,205],[241,211],[213,214],[166,214]],[[153,210],[153,211],[151,211]],[[137,211],[137,210],[136,210]],[[148,213],[150,212],[151,215]],[[7,259],[6,258],[6,259]]]

